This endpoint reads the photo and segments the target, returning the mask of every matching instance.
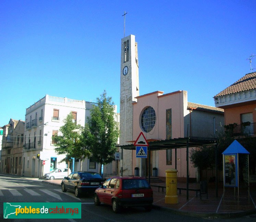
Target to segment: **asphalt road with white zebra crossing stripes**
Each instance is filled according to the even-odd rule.
[[[4,202],[81,202],[82,219],[58,219],[57,221],[116,221],[116,222],[137,222],[137,221],[255,221],[256,217],[243,217],[233,219],[214,219],[214,218],[195,218],[179,214],[173,214],[165,210],[153,209],[146,212],[144,208],[125,208],[121,213],[114,213],[112,207],[101,204],[94,206],[93,196],[83,196],[76,198],[74,193],[61,191],[61,187],[53,186],[48,183],[42,183],[39,180],[26,180],[23,178],[14,178],[0,176],[0,221],[3,221],[3,203]],[[36,221],[52,222],[56,219],[37,219]],[[9,219],[8,221],[35,221],[35,219]]]

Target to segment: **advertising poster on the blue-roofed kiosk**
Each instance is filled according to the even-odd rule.
[[[237,155],[224,155],[224,184],[225,186],[237,187]]]

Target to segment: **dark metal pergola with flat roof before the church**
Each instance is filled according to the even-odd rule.
[[[129,141],[135,142],[135,141]],[[216,138],[201,138],[201,137],[185,137],[185,138],[174,138],[174,139],[165,139],[165,140],[157,140],[157,139],[148,139],[148,181],[150,183],[150,151],[155,150],[167,150],[167,149],[175,149],[175,169],[177,168],[177,149],[186,148],[186,162],[187,162],[187,177],[186,177],[186,185],[187,185],[187,200],[188,200],[188,148],[192,147],[200,147],[200,146],[212,146],[217,145]],[[121,149],[127,150],[136,150],[136,146],[133,144],[130,145],[122,145],[118,146]],[[217,164],[217,149],[215,151],[215,162]],[[218,195],[217,190],[217,167],[216,167],[216,196]]]

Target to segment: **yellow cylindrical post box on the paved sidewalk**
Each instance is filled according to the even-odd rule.
[[[177,195],[177,172],[176,169],[168,169],[166,172],[166,196],[165,204],[178,204]]]

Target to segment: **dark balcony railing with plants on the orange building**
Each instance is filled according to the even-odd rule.
[[[231,125],[231,126],[230,126]],[[234,125],[230,124],[228,128],[225,129],[226,133],[231,136],[245,136],[256,134],[256,123],[250,123],[248,125]]]

